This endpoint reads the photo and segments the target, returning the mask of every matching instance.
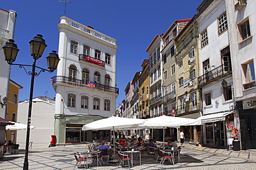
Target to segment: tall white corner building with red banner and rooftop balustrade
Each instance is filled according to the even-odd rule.
[[[107,139],[107,131],[86,134],[82,125],[115,113],[116,39],[67,17],[60,18],[58,28],[60,63],[53,78],[57,143]]]

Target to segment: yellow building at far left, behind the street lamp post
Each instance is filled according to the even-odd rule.
[[[16,122],[17,121],[17,110],[18,110],[18,98],[19,98],[19,89],[23,87],[15,81],[10,80],[9,90],[8,90],[8,102],[7,102],[7,111],[6,111],[6,120]],[[11,140],[13,143],[16,143],[17,131],[6,131],[7,138],[6,141]]]

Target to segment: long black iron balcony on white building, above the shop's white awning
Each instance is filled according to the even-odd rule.
[[[198,78],[199,85],[205,85],[206,83],[217,81],[219,80],[219,78],[223,76],[232,74],[231,67],[229,65],[227,66],[220,65],[219,67],[214,68],[214,70],[210,70],[209,72],[203,74],[202,76],[199,76]]]

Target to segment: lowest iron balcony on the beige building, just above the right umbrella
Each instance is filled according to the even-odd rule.
[[[184,105],[179,105],[178,109],[175,111],[175,115],[187,115],[187,114],[193,114],[201,109],[200,103],[185,103]]]

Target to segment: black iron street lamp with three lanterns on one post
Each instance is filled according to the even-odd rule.
[[[48,70],[37,67],[35,65],[37,59],[39,59],[42,54],[44,53],[44,49],[46,48],[45,40],[42,38],[43,36],[41,34],[37,34],[31,40],[30,43],[30,54],[33,56],[33,65],[21,65],[21,64],[14,64],[17,54],[19,52],[19,49],[17,45],[14,43],[15,41],[10,39],[9,42],[6,43],[6,45],[3,46],[3,53],[5,55],[5,59],[9,65],[19,65],[20,68],[24,68],[26,74],[29,76],[31,75],[31,82],[30,82],[30,96],[29,96],[29,105],[28,105],[28,125],[27,125],[27,136],[26,136],[26,150],[25,150],[25,159],[24,159],[24,167],[23,169],[28,169],[28,145],[29,145],[29,136],[30,136],[30,118],[31,118],[31,110],[32,110],[32,99],[33,99],[33,89],[34,89],[34,81],[35,76],[39,76],[41,72],[53,72],[57,68],[57,64],[59,63],[60,59],[56,51],[53,51],[49,54],[49,56],[46,57],[47,59],[47,65]],[[31,72],[26,71],[26,66],[32,67]],[[35,68],[38,68],[40,71],[39,73],[35,72]]]

